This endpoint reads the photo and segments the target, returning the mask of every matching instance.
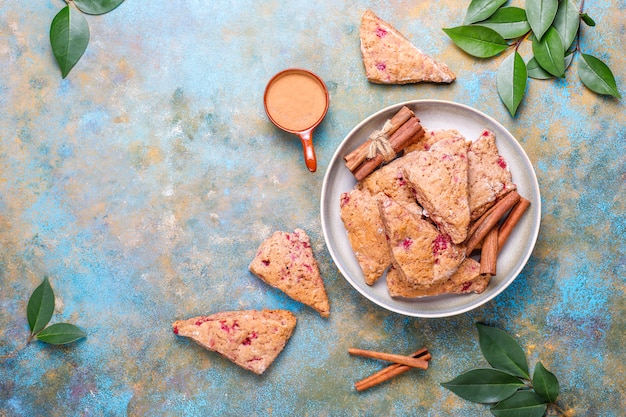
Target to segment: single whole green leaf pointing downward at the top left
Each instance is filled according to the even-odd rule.
[[[61,9],[50,25],[50,44],[65,78],[89,44],[89,26],[82,13],[70,6]]]

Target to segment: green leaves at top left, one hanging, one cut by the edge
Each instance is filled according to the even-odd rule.
[[[108,13],[124,0],[64,1],[66,6],[57,13],[50,25],[50,44],[63,78],[74,68],[89,44],[89,25],[84,14]]]

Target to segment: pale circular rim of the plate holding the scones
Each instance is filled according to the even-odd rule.
[[[499,288],[497,288],[495,291],[492,291],[491,293],[487,294],[484,297],[479,298],[478,300],[468,303],[466,306],[454,310],[452,312],[449,311],[442,311],[442,312],[419,312],[419,311],[408,311],[407,309],[402,309],[399,307],[395,307],[395,306],[390,306],[390,305],[385,305],[384,303],[381,303],[380,300],[378,300],[372,293],[368,293],[366,292],[364,289],[362,289],[361,287],[359,287],[358,285],[355,285],[355,283],[352,282],[352,278],[349,276],[350,274],[347,273],[347,271],[344,271],[341,262],[338,262],[338,254],[335,252],[335,248],[333,247],[333,245],[329,244],[329,235],[330,235],[330,230],[329,227],[330,225],[327,223],[329,221],[329,217],[328,217],[328,210],[330,210],[330,207],[326,208],[326,205],[328,204],[328,202],[326,201],[327,199],[325,198],[325,196],[328,194],[328,187],[330,187],[330,175],[331,173],[334,171],[334,167],[337,164],[337,160],[338,159],[343,159],[343,147],[346,144],[346,141],[351,138],[356,132],[358,132],[360,129],[362,129],[362,127],[369,123],[372,119],[375,119],[377,117],[379,117],[381,114],[389,112],[393,109],[400,109],[402,106],[408,106],[408,107],[412,107],[412,106],[419,106],[419,105],[445,105],[445,106],[452,106],[452,107],[456,107],[464,112],[468,112],[468,113],[474,113],[482,118],[484,118],[485,120],[489,121],[490,123],[492,123],[493,125],[495,125],[496,127],[498,127],[498,129],[501,129],[502,131],[506,132],[506,134],[508,134],[513,140],[511,141],[511,145],[513,146],[513,148],[515,148],[515,152],[517,153],[518,157],[522,158],[522,162],[526,165],[528,165],[528,167],[530,168],[529,170],[529,174],[530,174],[530,180],[531,180],[531,188],[534,191],[534,195],[533,197],[536,197],[536,202],[534,203],[534,205],[536,205],[535,210],[536,210],[536,214],[535,217],[537,218],[537,221],[534,222],[534,227],[532,228],[532,230],[530,231],[530,240],[529,240],[529,245],[527,250],[524,253],[523,259],[521,259],[521,262],[519,262],[517,268],[514,268],[513,272],[511,273],[511,276],[508,277],[508,279],[503,282],[502,285],[500,285]],[[419,115],[418,115],[419,116]],[[340,153],[340,151],[342,151]],[[539,229],[540,229],[540,224],[541,224],[541,191],[539,188],[539,183],[537,180],[537,175],[535,172],[535,169],[532,165],[532,162],[530,161],[530,159],[528,158],[528,155],[526,154],[526,151],[524,150],[524,148],[522,147],[522,145],[519,143],[519,141],[517,140],[517,138],[511,133],[509,132],[508,129],[506,129],[506,127],[504,127],[500,122],[498,122],[496,119],[494,119],[493,117],[485,114],[484,112],[475,109],[473,107],[470,107],[468,105],[462,104],[462,103],[457,103],[454,101],[448,101],[448,100],[438,100],[438,99],[415,99],[415,100],[407,100],[407,101],[403,101],[403,102],[398,102],[396,104],[392,104],[389,106],[386,106],[372,114],[370,114],[369,116],[365,117],[364,119],[362,119],[359,123],[357,123],[356,126],[354,126],[344,137],[343,139],[339,142],[339,144],[337,145],[335,152],[333,153],[332,158],[330,159],[330,162],[328,163],[328,166],[326,167],[326,172],[324,174],[324,178],[323,178],[323,182],[322,182],[322,189],[321,189],[321,196],[320,196],[320,215],[321,215],[321,224],[322,224],[322,233],[324,236],[324,241],[326,244],[326,248],[329,251],[331,258],[335,264],[335,266],[337,267],[337,269],[339,270],[339,273],[342,275],[342,277],[348,281],[348,283],[355,289],[357,290],[358,293],[360,293],[362,296],[364,296],[366,299],[368,299],[369,301],[373,302],[374,304],[378,305],[381,308],[384,308],[385,310],[397,313],[397,314],[402,314],[405,316],[409,316],[409,317],[421,317],[421,318],[442,318],[442,317],[451,317],[451,316],[455,316],[455,315],[460,315],[460,314],[464,314],[468,311],[474,310],[486,303],[488,303],[489,301],[493,300],[495,297],[497,297],[499,294],[501,294],[505,289],[507,289],[511,283],[513,281],[515,281],[515,279],[517,279],[517,277],[519,276],[519,274],[521,273],[521,271],[524,269],[524,267],[527,265],[528,263],[528,259],[530,259],[530,256],[532,255],[534,249],[535,249],[535,245],[537,242],[537,238],[539,235]],[[483,293],[484,294],[484,293]],[[477,295],[481,295],[481,294],[477,294]],[[471,296],[470,294],[467,294],[467,296]],[[408,299],[410,300],[410,299]]]

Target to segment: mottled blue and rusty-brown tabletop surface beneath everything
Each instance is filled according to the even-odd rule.
[[[64,3],[1,2],[0,354],[27,339],[26,304],[44,276],[57,296],[53,322],[88,336],[61,348],[33,342],[1,360],[0,416],[488,415],[439,385],[486,365],[476,321],[515,335],[531,366],[552,370],[563,408],[625,415],[624,101],[583,87],[575,61],[565,79],[531,81],[511,118],[495,91],[502,57],[470,58],[441,30],[460,25],[468,3],[127,0],[87,17],[89,47],[63,80],[48,32]],[[581,46],[610,65],[624,94],[626,2],[585,4],[598,25],[584,28]],[[366,8],[458,80],[368,83],[358,41]],[[266,82],[291,66],[330,89],[314,174],[263,110]],[[518,279],[446,319],[368,302],[339,274],[320,226],[324,172],[343,137],[369,114],[419,98],[499,120],[526,150],[543,198]],[[296,227],[320,262],[327,320],[248,272],[263,238]],[[298,317],[262,376],[171,332],[176,319],[244,308]],[[381,364],[348,347],[423,345],[427,371],[353,389]]]

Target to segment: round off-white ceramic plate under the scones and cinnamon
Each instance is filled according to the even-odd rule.
[[[343,157],[380,129],[402,106],[408,106],[426,129],[456,129],[467,139],[483,129],[496,134],[496,144],[505,158],[518,192],[531,205],[498,255],[498,273],[482,294],[440,295],[416,299],[392,298],[385,276],[374,285],[365,284],[340,217],[339,200],[356,181]],[[500,123],[471,107],[439,100],[415,100],[387,107],[359,123],[341,142],[328,166],[321,195],[322,230],[326,246],[346,280],[370,301],[387,310],[414,317],[447,317],[472,310],[500,294],[520,273],[535,246],[541,219],[539,184],[532,164],[518,141]]]

